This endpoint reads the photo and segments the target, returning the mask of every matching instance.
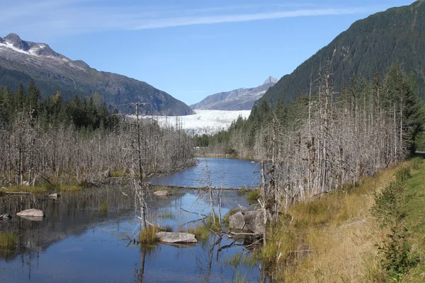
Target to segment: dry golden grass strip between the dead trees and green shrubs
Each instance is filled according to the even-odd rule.
[[[291,207],[293,221],[280,217],[257,256],[278,282],[373,282],[380,276],[375,244],[385,235],[369,209],[394,172]]]

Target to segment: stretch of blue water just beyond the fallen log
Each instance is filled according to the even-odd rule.
[[[247,160],[198,158],[198,165],[171,175],[150,178],[154,185],[182,187],[254,187],[261,182],[260,167]]]

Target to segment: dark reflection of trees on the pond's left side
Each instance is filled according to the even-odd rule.
[[[119,224],[121,216],[129,216],[133,209],[131,195],[126,197],[116,188],[64,194],[57,200],[37,197],[35,202],[38,209],[46,214],[42,221],[30,221],[15,216],[23,209],[34,207],[32,197],[0,198],[0,214],[7,212],[13,216],[10,221],[1,221],[0,229],[13,231],[18,238],[16,250],[13,253],[0,253],[1,258],[12,260],[19,254],[40,252],[52,243],[69,235],[84,233],[89,226],[111,217],[116,218]],[[98,212],[101,202],[108,203],[108,214]]]

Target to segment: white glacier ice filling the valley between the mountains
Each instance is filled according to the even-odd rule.
[[[195,115],[186,116],[144,116],[144,118],[153,118],[159,125],[174,125],[176,121],[181,122],[182,128],[188,134],[216,134],[223,129],[229,129],[232,121],[237,120],[239,116],[247,119],[251,110],[195,110]]]

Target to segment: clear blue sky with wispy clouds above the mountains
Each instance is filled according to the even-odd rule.
[[[45,42],[187,104],[280,79],[351,23],[412,0],[0,1],[0,36]]]

